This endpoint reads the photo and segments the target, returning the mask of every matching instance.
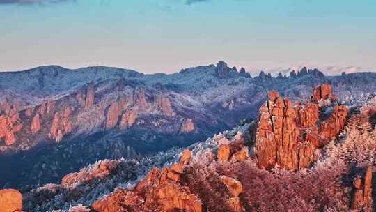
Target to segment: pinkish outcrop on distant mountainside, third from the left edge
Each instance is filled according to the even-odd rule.
[[[72,112],[72,107],[67,107],[63,113],[55,112],[52,126],[49,130],[49,137],[51,139],[60,142],[64,135],[72,131],[72,123],[70,121],[70,114],[72,114]]]

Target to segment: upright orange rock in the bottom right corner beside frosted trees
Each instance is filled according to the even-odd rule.
[[[372,205],[372,169],[367,167],[364,177],[358,175],[353,183],[351,209],[361,209],[363,206]]]

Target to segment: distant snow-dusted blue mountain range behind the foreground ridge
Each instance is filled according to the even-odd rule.
[[[189,146],[256,119],[271,89],[309,100],[314,86],[329,83],[346,104],[376,91],[376,73],[295,74],[251,77],[224,62],[171,75],[59,66],[0,73],[0,186],[27,191],[97,160]]]

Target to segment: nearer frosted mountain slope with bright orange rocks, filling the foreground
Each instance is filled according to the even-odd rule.
[[[24,192],[24,210],[374,211],[376,96],[342,102],[329,84],[311,94],[269,91],[254,121],[186,149],[95,162]]]

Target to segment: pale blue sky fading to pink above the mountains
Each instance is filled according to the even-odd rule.
[[[376,70],[375,0],[0,0],[0,71]],[[330,71],[331,69],[328,69]]]

